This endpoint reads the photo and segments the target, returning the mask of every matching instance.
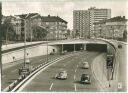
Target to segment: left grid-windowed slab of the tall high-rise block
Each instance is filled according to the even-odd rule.
[[[87,10],[73,11],[73,30],[76,37],[89,36],[89,12]]]

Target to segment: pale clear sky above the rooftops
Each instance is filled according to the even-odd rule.
[[[90,7],[111,9],[111,16],[126,16],[127,0],[0,0],[5,16],[24,13],[39,13],[42,16],[60,16],[73,28],[73,10],[87,10]]]

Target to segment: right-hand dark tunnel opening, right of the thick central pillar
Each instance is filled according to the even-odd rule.
[[[107,44],[96,44],[96,43],[86,44],[86,50],[107,52]]]

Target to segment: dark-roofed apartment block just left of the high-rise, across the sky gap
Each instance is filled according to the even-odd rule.
[[[66,38],[67,22],[58,16],[42,16],[41,26],[48,31],[48,39]]]

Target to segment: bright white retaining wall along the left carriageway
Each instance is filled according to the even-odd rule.
[[[48,46],[48,54],[51,53],[55,49],[58,52],[58,48],[56,46]],[[26,49],[26,53],[28,53],[27,58],[46,55],[47,54],[47,46],[46,44],[37,45],[33,47],[29,47]],[[2,54],[2,62],[3,64],[13,62],[16,60],[20,60],[24,58],[24,49],[8,52]]]

